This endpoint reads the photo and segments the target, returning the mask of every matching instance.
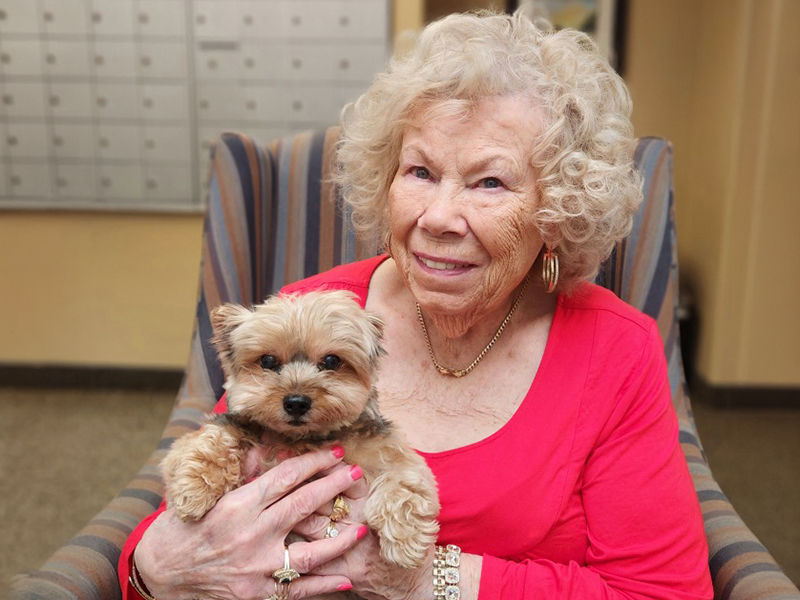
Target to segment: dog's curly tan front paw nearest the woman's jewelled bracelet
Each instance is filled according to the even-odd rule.
[[[380,475],[366,506],[369,526],[378,533],[384,560],[406,569],[422,565],[439,533],[439,499],[417,478]]]

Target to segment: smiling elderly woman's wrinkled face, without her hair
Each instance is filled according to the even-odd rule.
[[[541,250],[529,161],[540,118],[518,96],[486,98],[466,117],[435,108],[403,134],[389,188],[391,253],[423,310],[469,327],[508,307]]]

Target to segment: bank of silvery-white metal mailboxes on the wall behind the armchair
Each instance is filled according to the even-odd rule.
[[[338,120],[388,0],[0,0],[0,208],[203,206],[223,131]]]

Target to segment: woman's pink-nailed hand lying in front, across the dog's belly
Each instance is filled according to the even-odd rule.
[[[284,566],[287,534],[360,476],[341,457],[341,448],[334,448],[289,458],[223,496],[197,522],[183,522],[170,510],[161,514],[135,551],[151,594],[158,600],[261,600],[275,593],[272,573]],[[350,522],[334,538],[291,543],[291,567],[302,575],[289,586],[292,600],[349,589],[350,580],[335,569],[316,570],[365,534]]]

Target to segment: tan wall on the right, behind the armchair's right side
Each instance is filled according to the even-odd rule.
[[[698,370],[716,384],[796,386],[800,3],[630,6],[636,130],[675,145],[680,266],[701,319]]]

